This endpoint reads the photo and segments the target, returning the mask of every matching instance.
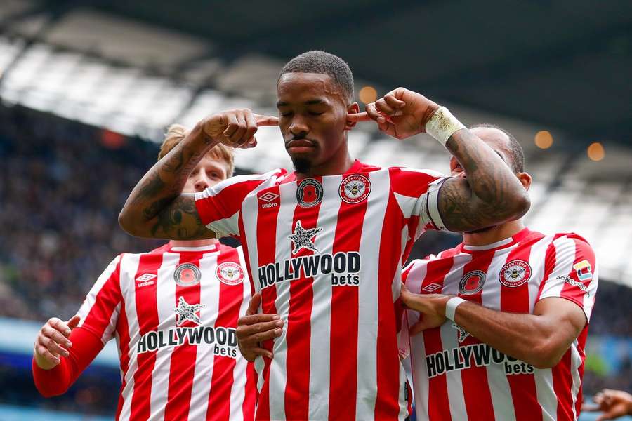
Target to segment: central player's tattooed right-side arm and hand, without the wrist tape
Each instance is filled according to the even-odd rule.
[[[439,105],[423,95],[397,88],[367,105],[367,118],[398,139],[423,133]],[[362,119],[356,114],[357,119]],[[439,192],[439,212],[450,231],[468,232],[520,218],[529,196],[511,168],[468,129],[456,131],[446,147],[467,178],[451,178]]]

